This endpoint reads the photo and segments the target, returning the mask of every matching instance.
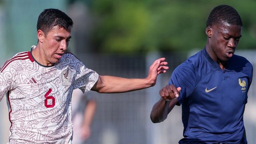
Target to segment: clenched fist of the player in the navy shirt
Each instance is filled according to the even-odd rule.
[[[159,94],[164,100],[169,101],[178,98],[180,90],[181,87],[176,88],[175,85],[166,85],[159,91]]]

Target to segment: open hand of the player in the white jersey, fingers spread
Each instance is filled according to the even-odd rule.
[[[166,66],[168,63],[165,61],[165,58],[160,58],[154,61],[154,63],[149,67],[148,77],[151,86],[156,84],[156,78],[161,73],[166,73],[166,70],[169,69]]]

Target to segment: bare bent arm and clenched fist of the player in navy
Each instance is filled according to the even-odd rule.
[[[159,91],[161,98],[155,103],[150,114],[153,123],[162,122],[167,118],[167,115],[178,102],[177,97],[179,97],[180,90],[181,88],[176,88],[175,85],[166,85]]]

